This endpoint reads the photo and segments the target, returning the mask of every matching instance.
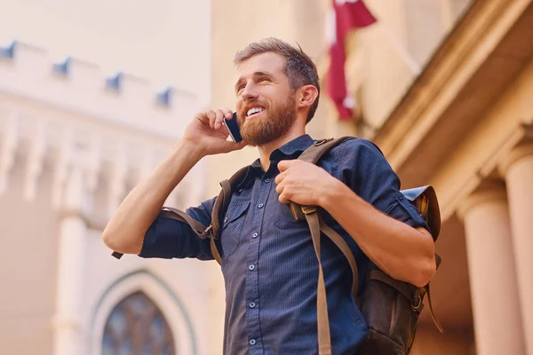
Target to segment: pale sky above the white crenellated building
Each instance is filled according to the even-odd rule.
[[[210,12],[209,0],[0,0],[0,46],[20,40],[209,100]]]

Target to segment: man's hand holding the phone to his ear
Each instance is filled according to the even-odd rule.
[[[243,149],[246,142],[235,143],[227,140],[229,132],[224,117],[232,119],[233,112],[228,108],[208,110],[196,114],[185,130],[183,138],[200,149],[202,155],[233,152]]]

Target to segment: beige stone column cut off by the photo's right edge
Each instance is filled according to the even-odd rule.
[[[524,338],[533,354],[533,142],[517,146],[504,166],[513,229]]]

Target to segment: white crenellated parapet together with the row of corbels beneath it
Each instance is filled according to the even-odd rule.
[[[12,185],[12,170],[20,164],[23,197],[29,201],[43,188],[43,175],[51,174],[52,185],[46,188],[52,189],[53,207],[110,217],[125,194],[171,151],[200,109],[195,95],[155,91],[133,75],[106,76],[79,59],[53,63],[45,51],[24,43],[2,48],[0,195]],[[168,204],[185,208],[198,203],[203,181],[198,164]],[[75,182],[74,190],[82,191],[72,193]]]

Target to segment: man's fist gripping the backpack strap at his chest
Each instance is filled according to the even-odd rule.
[[[326,170],[298,159],[278,163],[280,174],[275,177],[279,201],[320,206],[328,188],[338,183]]]

